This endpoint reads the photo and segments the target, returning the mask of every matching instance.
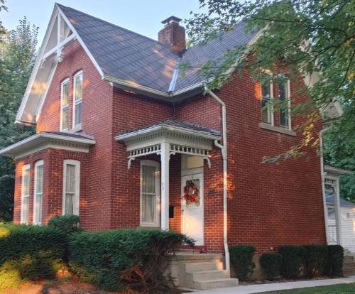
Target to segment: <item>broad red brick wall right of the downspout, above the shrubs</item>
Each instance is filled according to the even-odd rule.
[[[302,80],[291,84],[291,96],[296,85],[302,87]],[[259,128],[260,87],[247,75],[217,94],[227,109],[229,244],[253,244],[258,251],[283,244],[324,244],[320,158],[315,149],[307,148],[306,158],[280,165],[261,163],[263,156],[299,143],[300,135]],[[297,103],[305,97],[295,99]],[[301,121],[293,119],[293,126]]]

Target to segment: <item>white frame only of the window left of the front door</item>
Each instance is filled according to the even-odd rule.
[[[143,222],[143,165],[153,166],[156,170],[155,173],[155,201],[156,212],[154,222]],[[140,176],[140,226],[141,227],[160,227],[160,164],[154,160],[141,160],[141,176]]]

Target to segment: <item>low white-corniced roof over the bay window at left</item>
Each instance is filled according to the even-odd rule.
[[[46,148],[60,148],[87,153],[89,152],[89,146],[95,143],[96,141],[93,138],[81,134],[42,131],[1,149],[0,156],[17,159]]]

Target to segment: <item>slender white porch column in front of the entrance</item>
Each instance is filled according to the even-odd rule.
[[[170,143],[163,142],[160,145],[161,161],[161,219],[162,230],[169,229],[169,160]]]

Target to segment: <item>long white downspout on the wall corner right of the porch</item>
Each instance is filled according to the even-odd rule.
[[[211,95],[219,104],[222,105],[222,141],[220,144],[217,140],[214,140],[214,145],[221,149],[222,160],[223,160],[223,243],[224,243],[224,254],[226,256],[226,270],[230,270],[229,263],[229,249],[228,249],[228,222],[227,222],[227,153],[226,153],[226,104],[219,99],[219,97],[214,94],[210,89],[205,87],[208,94]]]

